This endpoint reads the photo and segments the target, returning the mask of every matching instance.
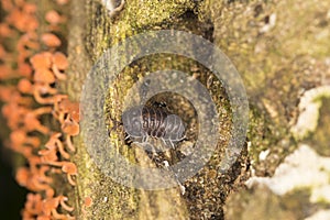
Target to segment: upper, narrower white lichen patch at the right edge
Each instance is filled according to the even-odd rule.
[[[330,97],[330,86],[310,89],[304,94],[299,102],[300,114],[297,123],[292,128],[292,133],[297,140],[306,138],[318,125],[321,98]]]

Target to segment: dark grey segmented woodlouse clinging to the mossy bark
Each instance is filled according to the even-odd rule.
[[[166,145],[185,139],[185,124],[183,120],[172,114],[164,107],[138,106],[122,114],[122,123],[127,139],[140,139],[147,142],[147,139],[161,139]]]

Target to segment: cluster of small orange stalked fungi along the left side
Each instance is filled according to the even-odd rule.
[[[68,1],[55,2],[62,7]],[[16,170],[16,182],[31,191],[22,217],[75,219],[68,197],[56,191],[53,178],[64,174],[64,182],[76,185],[70,156],[76,151],[73,136],[79,133],[79,105],[56,87],[67,78],[68,61],[57,36],[66,18],[55,10],[46,12],[42,20],[47,26],[41,33],[36,4],[1,0],[1,112],[11,130],[8,146],[26,160]]]

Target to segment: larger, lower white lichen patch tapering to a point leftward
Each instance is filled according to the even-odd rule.
[[[287,156],[272,178],[251,177],[246,183],[251,188],[254,185],[265,185],[276,195],[285,195],[294,189],[310,188],[310,201],[320,199],[330,204],[330,157],[319,156],[310,146],[301,145]],[[322,191],[322,193],[321,193]]]

